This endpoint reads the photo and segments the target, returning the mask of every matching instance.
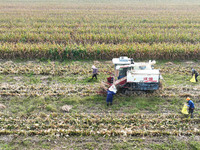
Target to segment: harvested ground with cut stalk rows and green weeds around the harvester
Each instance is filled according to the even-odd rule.
[[[80,137],[90,138],[91,141],[94,137],[123,137],[126,141],[136,137],[144,138],[139,140],[141,146],[138,146],[138,141],[135,143],[139,149],[142,146],[148,147],[145,142],[148,143],[153,137],[166,138],[167,141],[170,140],[169,137],[199,137],[200,86],[189,82],[191,66],[199,69],[199,62],[157,62],[155,68],[160,68],[164,77],[161,90],[143,95],[118,93],[113,107],[109,108],[105,105],[106,97],[99,95],[98,91],[101,82],[108,76],[106,71],[111,71],[113,65],[98,61],[98,80],[90,81],[93,63],[2,61],[0,103],[6,108],[0,114],[1,137],[9,139],[13,135],[19,138],[39,136],[38,140],[42,141],[43,138],[54,136],[61,141],[71,137],[76,144]],[[187,96],[193,99],[196,106],[195,118],[192,120],[180,113]],[[68,112],[63,111],[63,106],[66,105],[71,108]],[[5,144],[12,143],[2,141]],[[61,141],[56,140],[60,144]],[[128,143],[129,146],[133,144]],[[54,144],[49,144],[56,149]],[[83,147],[88,144],[88,141],[82,143]],[[24,147],[19,143],[17,145]],[[107,143],[108,147],[109,145],[124,146]],[[154,143],[149,148],[154,149],[155,145]],[[90,146],[100,148],[93,142]],[[71,144],[70,147],[76,146]]]

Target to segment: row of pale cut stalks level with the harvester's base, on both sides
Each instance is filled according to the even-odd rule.
[[[102,94],[102,89],[100,84],[91,85],[82,85],[82,84],[36,84],[36,85],[27,85],[19,82],[19,84],[1,84],[0,86],[0,95],[1,96],[91,96],[96,94]],[[151,96],[160,96],[160,97],[200,97],[200,88],[199,87],[173,87],[168,86],[163,88],[163,90],[154,92],[152,94],[142,93],[140,96],[151,97]],[[137,93],[129,92],[129,95],[135,96]]]

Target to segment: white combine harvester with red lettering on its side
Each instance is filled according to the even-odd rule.
[[[117,91],[122,93],[146,93],[161,87],[162,76],[159,69],[153,67],[156,61],[134,62],[132,58],[120,57],[113,58],[112,62],[115,65],[115,72],[111,73],[107,82],[102,83],[104,89],[115,86]]]

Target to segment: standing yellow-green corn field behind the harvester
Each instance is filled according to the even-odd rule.
[[[198,5],[0,3],[1,59],[200,57]]]

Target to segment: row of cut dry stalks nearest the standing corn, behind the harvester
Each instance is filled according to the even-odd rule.
[[[49,61],[41,63],[37,61],[27,61],[26,63],[16,63],[13,61],[2,61],[0,63],[0,74],[31,74],[31,75],[89,75],[92,72],[91,66],[95,63],[95,66],[99,69],[100,74],[107,74],[107,71],[113,72],[114,65],[110,61],[72,61],[72,63],[65,62],[53,62]],[[182,65],[168,64],[154,66],[160,69],[162,74],[178,74],[178,75],[191,75],[191,67],[195,67],[196,70],[200,70],[198,64],[186,64]]]

